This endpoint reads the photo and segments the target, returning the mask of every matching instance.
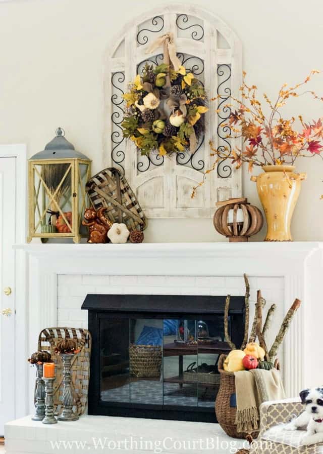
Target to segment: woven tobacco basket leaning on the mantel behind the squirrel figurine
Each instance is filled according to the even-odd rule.
[[[146,217],[127,180],[114,167],[94,175],[85,186],[95,210],[105,207],[111,222],[124,223],[129,230],[143,230]]]

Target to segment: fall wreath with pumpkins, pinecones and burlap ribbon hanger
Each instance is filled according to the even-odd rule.
[[[202,82],[182,66],[171,33],[158,38],[146,53],[162,45],[164,63],[155,67],[146,63],[123,95],[123,134],[142,155],[194,153],[204,132],[203,114],[208,110],[205,90]]]

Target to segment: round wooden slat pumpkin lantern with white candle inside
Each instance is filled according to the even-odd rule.
[[[230,198],[217,203],[213,224],[217,232],[229,238],[230,242],[248,241],[249,236],[261,230],[263,216],[261,211],[248,203],[248,199]]]

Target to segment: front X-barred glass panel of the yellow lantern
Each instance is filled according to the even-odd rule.
[[[35,233],[72,233],[72,164],[34,166]]]

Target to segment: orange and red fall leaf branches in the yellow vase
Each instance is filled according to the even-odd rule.
[[[264,106],[258,99],[257,87],[246,84],[246,72],[243,72],[243,81],[239,89],[241,99],[234,96],[228,98],[223,95],[211,98],[211,101],[218,101],[219,106],[221,105],[221,109],[217,110],[218,113],[223,109],[230,109],[228,120],[221,124],[224,133],[229,131],[224,139],[228,141],[242,138],[243,148],[217,146],[210,141],[211,156],[215,158],[214,162],[204,172],[202,181],[193,188],[191,197],[195,196],[197,188],[204,183],[206,175],[217,168],[219,161],[225,159],[230,159],[236,169],[239,169],[243,162],[248,163],[250,172],[254,166],[293,165],[295,160],[301,156],[319,156],[323,159],[323,117],[305,122],[302,115],[298,115],[301,130],[299,131],[296,128],[294,116],[283,118],[281,114],[281,108],[290,98],[309,94],[314,99],[323,101],[323,97],[319,97],[313,91],[301,91],[311,77],[317,73],[319,71],[313,69],[302,82],[289,88],[287,84],[283,84],[275,101],[264,93]],[[222,105],[225,99],[231,99],[234,104]],[[265,111],[268,112],[266,115]]]

